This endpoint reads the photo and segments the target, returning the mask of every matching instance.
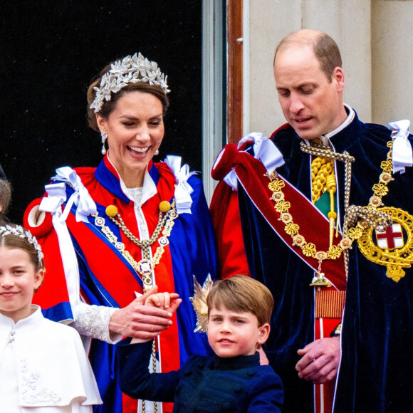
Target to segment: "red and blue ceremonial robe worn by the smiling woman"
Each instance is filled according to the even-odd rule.
[[[105,226],[124,244],[132,258],[139,262],[142,258],[141,249],[105,213],[107,206],[116,206],[127,229],[139,238],[134,202],[122,191],[120,178],[108,157],[104,157],[97,168],[77,168],[75,172],[95,202],[97,214],[104,219]],[[156,194],[142,204],[142,213],[148,232],[152,235],[158,222],[160,202],[172,203],[177,179],[164,162],[150,162],[147,172],[155,183]],[[162,372],[178,369],[189,355],[209,353],[206,335],[194,333],[197,318],[189,297],[194,295],[193,276],[201,284],[208,274],[212,278],[215,276],[216,242],[201,180],[191,175],[186,184],[192,189],[190,213],[179,214],[174,219],[169,244],[164,247],[164,253],[154,270],[159,291],[176,292],[183,300],[172,319],[172,326],[160,335],[157,352]],[[73,192],[73,186],[66,184],[67,199],[70,199]],[[70,288],[66,285],[58,236],[53,229],[51,214],[46,214],[46,219],[40,226],[31,227],[28,222],[30,211],[40,202],[41,199],[36,199],[28,206],[25,214],[25,225],[38,238],[45,255],[47,275],[35,300],[43,308],[46,318],[55,321],[73,320],[68,293]],[[135,292],[142,293],[142,277],[117,249],[116,243],[110,242],[103,234],[103,226],[95,224],[95,216],[89,215],[84,221],[78,221],[75,203],[70,208],[66,224],[78,264],[80,295],[86,303],[122,308],[135,299]],[[157,243],[152,245],[152,256],[157,246]],[[95,412],[136,412],[137,401],[127,399],[117,385],[114,345],[92,340],[90,362],[103,399],[103,405],[96,407]],[[163,411],[170,412],[172,409],[164,405]]]

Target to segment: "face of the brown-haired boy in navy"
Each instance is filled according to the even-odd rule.
[[[258,345],[266,342],[270,326],[258,327],[253,313],[236,313],[225,307],[211,308],[208,320],[208,341],[219,357],[253,355]]]

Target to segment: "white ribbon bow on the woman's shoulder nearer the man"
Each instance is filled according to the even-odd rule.
[[[178,214],[192,214],[191,194],[194,192],[191,185],[188,184],[189,177],[197,174],[198,172],[189,172],[189,166],[184,164],[181,167],[181,157],[175,155],[168,155],[164,162],[168,165],[169,169],[174,172],[174,176],[177,179],[177,187],[175,188],[175,202],[177,206]]]

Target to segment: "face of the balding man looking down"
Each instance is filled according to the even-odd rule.
[[[278,51],[274,76],[284,117],[303,139],[320,137],[344,122],[343,70],[335,68],[329,82],[310,46]]]

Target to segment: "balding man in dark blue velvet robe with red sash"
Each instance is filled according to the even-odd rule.
[[[352,248],[346,250],[347,261],[343,260],[343,252],[335,260],[325,259],[318,268],[314,257],[305,256],[300,245],[285,236],[282,225],[277,229],[280,214],[268,208],[268,202],[273,206],[276,202],[271,199],[271,191],[266,196],[268,179],[263,177],[263,173],[271,171],[266,171],[266,162],[257,156],[257,140],[254,145],[241,146],[241,152],[228,147],[216,162],[213,176],[222,178],[234,168],[237,192],[221,182],[211,203],[223,275],[231,276],[234,271],[250,273],[273,293],[273,333],[266,354],[286,389],[284,412],[331,411],[331,389],[338,371],[334,412],[407,411],[413,402],[407,387],[413,367],[413,352],[409,351],[413,342],[413,271],[409,268],[413,261],[413,217],[403,211],[412,209],[412,170],[392,174],[394,158],[388,155],[387,147],[392,132],[381,125],[360,122],[354,110],[343,105],[340,52],[330,36],[308,30],[293,33],[281,41],[274,63],[278,98],[289,125],[274,132],[271,140],[285,161],[278,167],[278,174],[298,191],[290,198],[286,191],[285,194],[286,201],[291,202],[288,212],[293,223],[299,223],[305,241],[313,243],[317,251],[328,249],[323,241],[329,238],[328,231],[318,221],[317,209],[322,214],[323,206],[316,204],[312,210],[305,203],[305,199],[312,199],[310,165],[315,157],[305,152],[305,147],[313,146],[315,140],[336,154],[347,152],[343,159],[334,158],[335,214],[340,232],[348,206],[367,206],[377,193],[380,196],[376,195],[376,201],[402,211],[387,211],[396,225],[390,226],[394,234],[386,229],[384,234],[375,235],[374,229],[368,227],[358,241],[353,238]],[[408,140],[406,130],[394,132],[395,135]],[[385,178],[382,174],[386,164],[383,166],[382,162],[387,162],[386,170],[390,170]],[[383,181],[389,174],[394,180]],[[237,219],[241,222],[239,231]],[[378,245],[383,241],[378,243],[377,239],[389,244],[381,248]],[[357,244],[362,244],[364,254]],[[400,251],[402,258],[397,258]],[[387,256],[388,265],[382,255]],[[380,262],[377,256],[381,256]],[[309,286],[320,269],[329,281],[338,274],[333,288]],[[397,280],[403,272],[405,275]],[[320,315],[315,297],[320,289],[345,291],[346,276],[340,355],[339,330],[323,324],[336,315],[329,315],[331,308],[327,315]],[[328,330],[334,330],[331,334],[335,337],[329,338]],[[298,349],[303,350],[297,354]]]

